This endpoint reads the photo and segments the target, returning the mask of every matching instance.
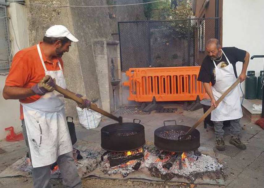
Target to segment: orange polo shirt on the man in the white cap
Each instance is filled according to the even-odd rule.
[[[40,42],[39,44],[41,44]],[[63,69],[61,58],[54,58],[53,62],[47,60],[42,49],[42,58],[47,70],[59,70],[58,61]],[[6,86],[16,86],[30,88],[37,84],[45,76],[45,70],[42,66],[37,45],[25,48],[17,52],[13,58],[9,74],[6,78]],[[33,95],[19,101],[22,103],[31,103],[41,98],[40,95]],[[20,104],[20,119],[24,119],[23,106]]]

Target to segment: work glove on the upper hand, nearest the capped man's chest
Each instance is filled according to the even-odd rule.
[[[32,86],[31,89],[38,95],[45,95],[45,93],[54,91],[55,87],[55,79],[52,79],[50,75],[46,75],[39,83]]]

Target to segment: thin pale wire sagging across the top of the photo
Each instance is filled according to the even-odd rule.
[[[94,6],[78,6],[78,5],[50,5],[50,4],[38,4],[38,3],[26,3],[26,2],[16,2],[24,5],[36,5],[36,6],[58,6],[58,7],[112,7],[112,6],[131,6],[131,5],[144,5],[154,2],[162,2],[166,0],[158,0],[152,2],[134,3],[134,4],[123,4],[123,5],[94,5]]]

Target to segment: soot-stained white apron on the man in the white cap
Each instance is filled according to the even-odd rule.
[[[48,71],[40,46],[37,50],[45,75],[56,79],[56,84],[66,89],[63,71]],[[72,144],[64,111],[64,97],[57,91],[46,93],[35,102],[21,103],[28,134],[28,145],[34,168],[47,166],[57,161],[58,156],[71,152]]]

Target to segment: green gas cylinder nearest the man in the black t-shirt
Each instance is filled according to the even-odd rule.
[[[248,71],[245,81],[245,98],[256,99],[257,98],[257,77],[255,71]]]

